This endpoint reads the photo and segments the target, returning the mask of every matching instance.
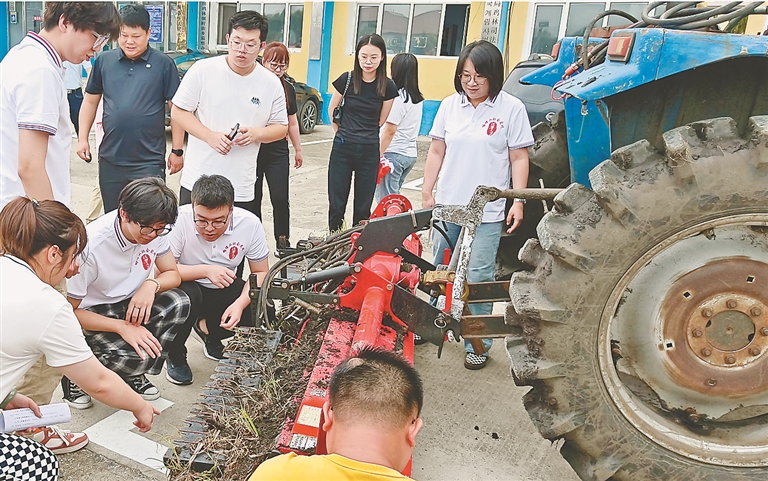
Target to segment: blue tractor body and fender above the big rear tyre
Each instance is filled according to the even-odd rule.
[[[617,36],[631,41],[626,62],[609,56],[561,82],[581,50],[581,39],[571,37],[555,62],[521,79],[567,94],[573,182],[590,186],[589,172],[612,151],[642,139],[658,145],[672,128],[717,117],[745,128],[750,116],[768,114],[768,36],[662,28]]]

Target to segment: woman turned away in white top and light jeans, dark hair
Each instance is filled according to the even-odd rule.
[[[419,62],[414,54],[395,55],[392,80],[400,95],[395,97],[379,134],[379,150],[391,168],[376,187],[377,204],[389,194],[400,193],[405,177],[416,164],[416,137],[419,136],[424,107],[424,96],[419,90]]]

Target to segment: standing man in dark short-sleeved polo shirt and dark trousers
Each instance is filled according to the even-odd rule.
[[[179,87],[179,71],[170,57],[149,46],[149,12],[142,5],[120,9],[119,49],[96,58],[80,109],[77,155],[91,159],[88,133],[104,97],[104,139],[99,148],[99,187],[104,212],[117,209],[117,197],[129,182],[165,179],[165,102]],[[168,169],[181,170],[184,130],[171,121]]]

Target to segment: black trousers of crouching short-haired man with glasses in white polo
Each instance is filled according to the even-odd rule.
[[[223,339],[235,335],[233,331],[228,331],[221,327],[221,316],[224,311],[240,297],[243,292],[245,281],[239,277],[224,289],[209,289],[201,286],[195,281],[182,282],[179,289],[187,293],[192,301],[192,310],[187,318],[187,322],[178,325],[176,337],[168,346],[168,359],[173,363],[180,363],[187,358],[187,347],[184,345],[192,332],[192,326],[198,319],[205,319],[205,325],[208,331],[207,344],[211,346],[220,345]],[[243,311],[240,318],[240,326],[253,326],[253,315],[251,314],[251,305]]]

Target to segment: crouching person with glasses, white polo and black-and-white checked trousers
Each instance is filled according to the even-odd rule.
[[[67,284],[69,302],[96,358],[151,401],[160,391],[146,374],[160,373],[175,327],[190,313],[189,297],[176,289],[181,278],[166,237],[178,206],[157,177],[128,184],[118,204],[88,224],[80,273]],[[90,406],[90,396],[69,379],[62,389],[70,406]]]

